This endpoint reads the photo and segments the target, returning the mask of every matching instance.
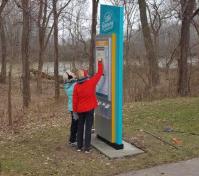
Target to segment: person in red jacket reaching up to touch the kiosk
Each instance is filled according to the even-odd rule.
[[[91,129],[93,125],[94,109],[97,107],[96,85],[103,74],[102,60],[98,60],[98,72],[91,78],[85,77],[84,71],[78,73],[78,82],[73,92],[73,111],[78,113],[77,151],[83,148],[84,124],[85,152],[89,153],[91,144]]]

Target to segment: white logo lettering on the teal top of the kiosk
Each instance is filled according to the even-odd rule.
[[[108,32],[114,28],[113,14],[111,12],[106,12],[103,16],[102,21],[102,31]]]

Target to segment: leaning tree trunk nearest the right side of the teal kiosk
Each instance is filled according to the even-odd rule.
[[[159,69],[158,61],[155,54],[154,45],[151,39],[150,28],[148,25],[147,14],[146,14],[146,1],[138,0],[140,9],[140,19],[142,24],[142,32],[144,36],[144,44],[146,48],[146,54],[149,62],[149,85],[155,87],[159,84]]]

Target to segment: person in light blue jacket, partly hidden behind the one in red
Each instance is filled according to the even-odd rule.
[[[76,84],[76,76],[71,71],[66,71],[63,74],[64,80],[64,91],[68,97],[68,111],[71,113],[71,127],[70,127],[70,138],[69,144],[75,145],[77,141],[77,127],[78,127],[78,116],[73,113],[73,89]]]

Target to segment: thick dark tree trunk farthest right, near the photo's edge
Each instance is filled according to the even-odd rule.
[[[181,0],[182,26],[180,38],[180,59],[178,60],[178,93],[181,96],[187,96],[190,93],[187,59],[189,55],[190,24],[194,5],[194,0]]]

